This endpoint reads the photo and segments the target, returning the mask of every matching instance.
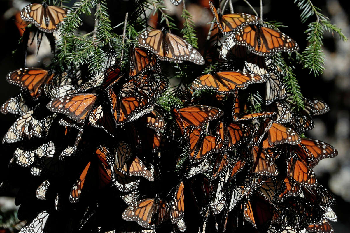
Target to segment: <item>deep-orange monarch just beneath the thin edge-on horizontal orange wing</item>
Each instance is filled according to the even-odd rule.
[[[232,123],[225,127],[223,122],[219,122],[216,136],[225,142],[227,150],[232,151],[239,145],[250,142],[253,134],[252,129],[247,125]]]

